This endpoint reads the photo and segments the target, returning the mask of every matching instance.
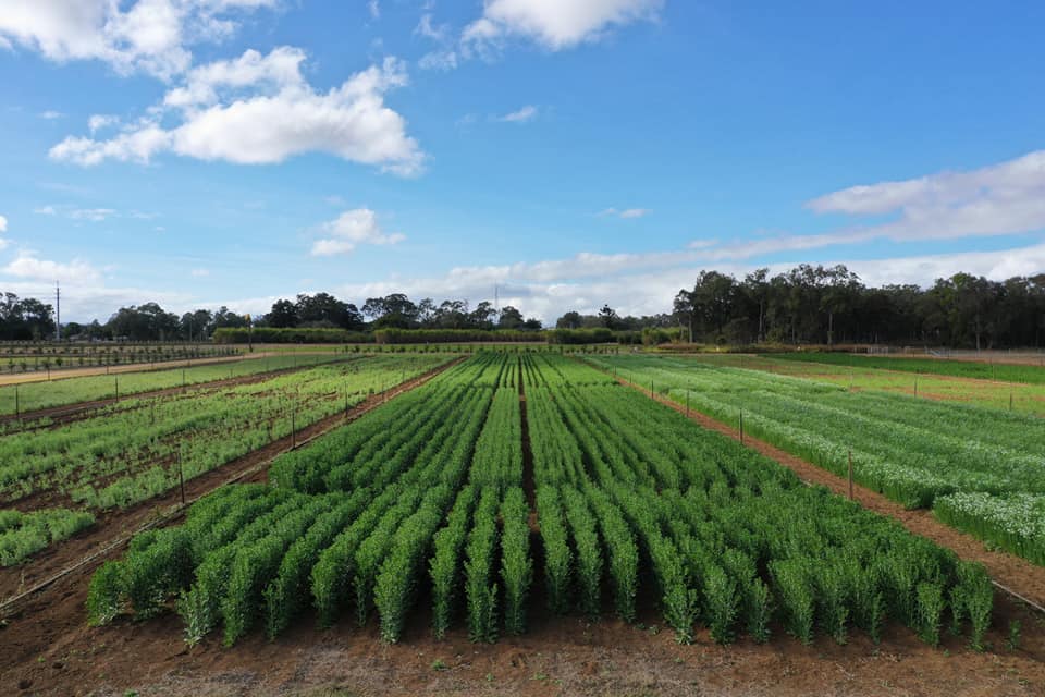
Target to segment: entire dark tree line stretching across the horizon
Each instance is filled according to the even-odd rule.
[[[41,340],[54,335],[53,308],[13,293],[0,296],[0,339]],[[122,307],[108,321],[69,322],[70,339],[205,341],[220,328],[538,331],[541,321],[513,306],[465,299],[415,302],[403,293],[367,298],[361,307],[329,293],[281,298],[249,317],[221,307],[181,317],[157,303]],[[681,289],[668,311],[620,317],[608,305],[595,314],[567,311],[560,330],[608,329],[643,333],[654,341],[720,344],[890,343],[993,348],[1042,346],[1045,342],[1045,273],[992,281],[970,273],[913,284],[865,285],[845,266],[800,265],[770,276],[758,269],[742,279],[701,271]]]

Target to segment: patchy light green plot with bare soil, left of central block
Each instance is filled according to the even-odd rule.
[[[27,525],[37,513],[46,512],[50,521],[64,509],[97,511],[136,504],[324,417],[347,412],[368,395],[446,359],[427,355],[356,358],[248,384],[130,398],[70,424],[19,424],[22,430],[0,439],[0,505],[29,517],[0,533],[0,549],[20,550],[5,554],[4,563],[23,561],[24,550],[36,551],[71,534],[64,534],[67,524],[47,525],[45,530],[53,528],[57,534],[42,537],[40,525]],[[72,519],[82,526],[88,517]]]

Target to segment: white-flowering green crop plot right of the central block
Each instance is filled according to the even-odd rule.
[[[855,391],[700,359],[606,357],[604,369],[743,428],[908,508],[1036,563],[1045,537],[1045,428],[1034,416]],[[970,498],[970,494],[974,494]]]

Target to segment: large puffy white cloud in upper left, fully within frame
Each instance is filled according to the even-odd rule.
[[[402,61],[388,58],[323,94],[302,76],[304,60],[299,49],[281,47],[201,65],[153,110],[174,112],[180,125],[164,127],[153,114],[109,140],[70,136],[50,157],[93,166],[107,159],[148,163],[174,152],[267,164],[329,152],[401,175],[420,172],[423,154],[403,117],[384,105],[385,93],[408,82]]]

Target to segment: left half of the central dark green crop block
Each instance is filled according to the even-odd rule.
[[[311,604],[322,626],[377,611],[394,641],[428,576],[443,628],[464,602],[474,636],[487,639],[500,575],[506,626],[520,628],[532,565],[521,441],[511,440],[518,393],[493,388],[507,364],[472,358],[404,395],[420,399],[401,398],[282,457],[273,486],[223,489],[185,525],[138,536],[93,579],[91,621],[148,616],[176,596],[189,641],[220,623],[232,644],[254,626],[274,637]],[[418,427],[401,428],[409,424]]]

